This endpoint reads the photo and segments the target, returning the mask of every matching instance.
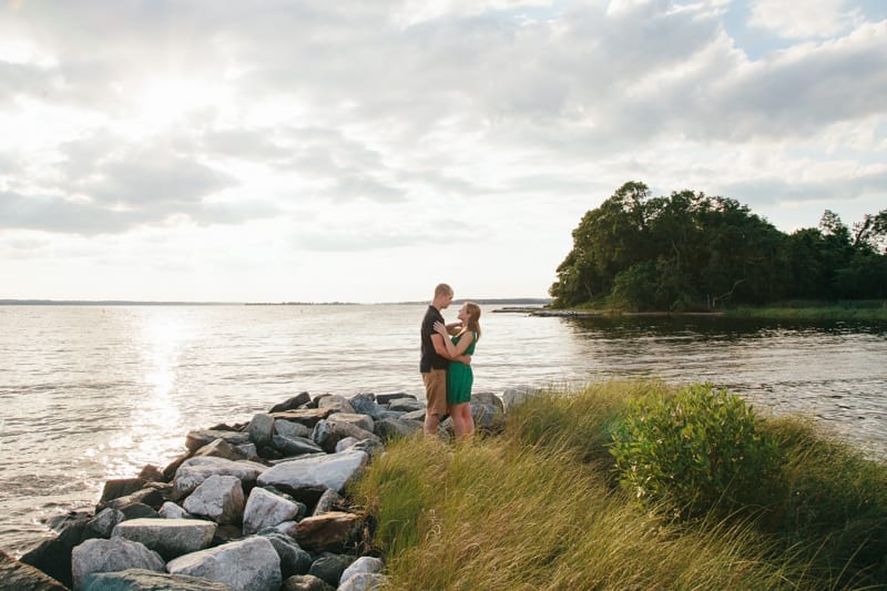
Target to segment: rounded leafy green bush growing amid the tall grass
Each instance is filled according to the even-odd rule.
[[[708,384],[634,399],[613,434],[620,482],[676,517],[765,503],[781,462],[762,422],[740,397]]]

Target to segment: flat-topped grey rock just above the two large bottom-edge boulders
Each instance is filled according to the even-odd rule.
[[[113,538],[143,543],[166,560],[208,548],[217,526],[202,519],[133,519],[114,528]]]

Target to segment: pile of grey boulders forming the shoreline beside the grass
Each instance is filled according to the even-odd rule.
[[[473,395],[472,414],[497,430],[502,398]],[[378,589],[374,519],[347,486],[387,441],[420,436],[424,419],[411,395],[302,393],[247,424],[191,431],[172,463],[106,481],[94,511],[54,520],[58,534],[20,560],[0,551],[0,588]],[[447,419],[440,434],[451,432]]]

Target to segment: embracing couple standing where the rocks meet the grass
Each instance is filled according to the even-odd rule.
[[[435,298],[428,306],[421,327],[421,359],[419,371],[425,383],[425,435],[437,435],[440,418],[449,415],[456,437],[475,432],[471,417],[471,355],[480,338],[480,307],[466,302],[458,320],[446,324],[440,310],[452,302],[452,287],[446,283],[435,287]]]

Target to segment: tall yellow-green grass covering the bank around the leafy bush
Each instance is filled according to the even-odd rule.
[[[628,401],[669,390],[608,383],[518,407],[467,445],[392,442],[355,487],[378,520],[394,589],[844,589],[887,587],[887,467],[797,419],[766,506],[675,520],[618,483]]]

